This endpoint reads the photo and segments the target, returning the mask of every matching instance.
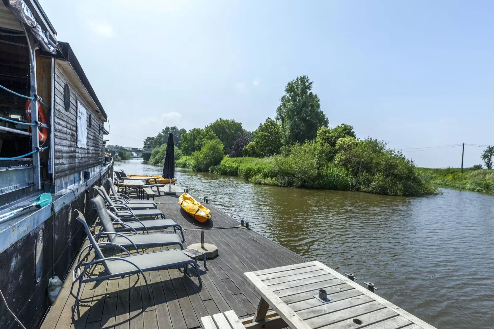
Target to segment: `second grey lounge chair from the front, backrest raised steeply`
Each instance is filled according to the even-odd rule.
[[[149,246],[170,246],[178,245],[183,250],[182,238],[177,233],[149,233],[149,234],[130,234],[124,235],[118,233],[113,225],[112,219],[105,208],[105,202],[101,196],[96,196],[91,199],[91,202],[96,207],[99,220],[103,226],[103,231],[94,236],[105,236],[112,244],[117,244],[122,247],[149,247]],[[122,225],[124,222],[119,223]],[[132,229],[137,233],[135,229]]]

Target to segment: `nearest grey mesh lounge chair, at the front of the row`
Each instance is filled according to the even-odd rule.
[[[74,283],[76,281],[79,281],[79,288],[77,289],[76,300],[74,302],[74,310],[72,311],[72,318],[74,318],[74,316],[76,315],[76,311],[79,306],[79,294],[81,293],[81,286],[83,283],[109,280],[113,278],[123,277],[125,275],[137,274],[137,276],[139,276],[140,273],[142,274],[142,278],[146,283],[149,297],[151,298],[151,289],[149,288],[148,281],[144,276],[144,272],[157,271],[168,267],[184,265],[184,276],[186,276],[188,273],[187,269],[189,264],[193,264],[196,269],[199,285],[201,286],[203,284],[201,280],[201,274],[199,272],[199,266],[197,265],[197,263],[178,249],[169,249],[130,255],[130,252],[127,249],[117,245],[117,247],[123,249],[127,254],[129,254],[129,256],[105,257],[103,255],[103,252],[101,252],[100,244],[96,243],[93,236],[91,235],[91,232],[89,232],[89,227],[87,226],[82,213],[79,210],[75,210],[75,215],[77,215],[77,220],[82,223],[82,226],[84,226],[84,230],[86,231],[87,238],[89,239],[89,243],[91,246],[90,248],[94,249],[96,256],[95,259],[90,262],[80,262],[73,272],[72,279]],[[87,276],[87,273],[96,264],[103,265],[105,274],[92,277]],[[80,269],[82,266],[84,266],[84,268],[81,271]]]

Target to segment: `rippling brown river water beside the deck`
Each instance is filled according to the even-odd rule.
[[[159,173],[138,159],[126,173]],[[494,328],[494,197],[443,189],[421,198],[282,188],[176,169],[186,187],[255,231],[437,328]]]

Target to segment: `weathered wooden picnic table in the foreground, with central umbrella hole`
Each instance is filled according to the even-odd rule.
[[[244,275],[261,295],[254,316],[241,320],[246,328],[434,329],[318,261]],[[316,298],[319,289],[330,301]]]

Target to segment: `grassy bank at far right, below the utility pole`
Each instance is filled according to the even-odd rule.
[[[494,170],[463,169],[463,173],[460,168],[415,170],[434,186],[494,194]]]

